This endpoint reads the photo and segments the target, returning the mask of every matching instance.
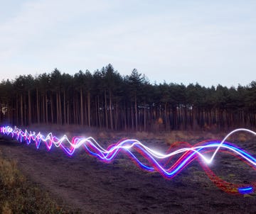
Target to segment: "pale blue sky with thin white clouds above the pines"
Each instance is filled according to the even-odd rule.
[[[151,83],[256,80],[256,1],[0,0],[0,80],[112,64]]]

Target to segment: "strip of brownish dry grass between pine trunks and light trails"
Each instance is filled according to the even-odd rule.
[[[201,131],[193,130],[171,130],[169,132],[144,132],[144,131],[106,131],[97,130],[96,128],[87,128],[81,125],[46,125],[46,124],[33,124],[27,127],[28,130],[33,130],[36,132],[41,132],[47,134],[53,131],[53,134],[60,137],[62,135],[67,135],[70,139],[73,136],[85,136],[85,137],[95,137],[95,140],[110,140],[117,141],[122,138],[136,138],[137,140],[160,140],[166,142],[166,144],[171,145],[177,141],[186,141],[191,144],[196,142],[201,142],[203,140],[222,140],[228,132],[218,132],[215,127],[205,126]],[[253,140],[253,136],[248,133],[237,133],[228,138],[230,142],[247,142]]]

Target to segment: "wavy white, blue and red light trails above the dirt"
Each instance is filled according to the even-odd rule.
[[[252,130],[240,128],[228,133],[228,135],[226,135],[221,141],[208,140],[202,142],[200,145],[198,144],[194,146],[186,143],[188,145],[187,147],[164,154],[156,150],[152,150],[142,142],[139,142],[139,140],[135,139],[120,140],[119,142],[112,144],[105,149],[93,137],[73,137],[72,140],[69,140],[66,135],[58,138],[52,133],[48,133],[48,135],[44,136],[41,133],[36,134],[35,132],[28,132],[27,130],[23,131],[17,127],[1,127],[1,134],[3,135],[11,135],[11,137],[15,137],[16,140],[19,140],[20,142],[26,141],[28,145],[33,142],[35,143],[36,148],[39,148],[42,142],[48,150],[50,150],[53,145],[55,147],[61,147],[70,156],[74,154],[75,150],[83,147],[85,151],[92,156],[95,156],[104,162],[111,162],[119,152],[127,152],[129,157],[139,167],[146,171],[158,171],[160,174],[166,177],[166,179],[173,178],[194,159],[198,159],[199,157],[198,162],[201,163],[201,166],[206,171],[206,174],[208,174],[209,178],[216,184],[216,186],[223,189],[223,191],[228,193],[242,194],[252,193],[256,189],[256,183],[252,183],[250,186],[248,186],[248,184],[238,185],[228,183],[218,178],[208,167],[208,165],[213,162],[218,152],[229,152],[233,156],[242,159],[253,169],[256,169],[255,157],[252,157],[252,155],[239,147],[226,142],[230,135],[238,132],[246,132],[256,135],[256,133]],[[206,157],[205,154],[209,152],[212,152],[212,155],[210,157]],[[176,160],[171,167],[166,167],[166,165],[171,161],[171,158],[176,156],[179,157],[178,160]]]

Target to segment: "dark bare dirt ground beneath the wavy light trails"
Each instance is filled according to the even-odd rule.
[[[168,148],[164,142],[149,145]],[[256,150],[255,143],[247,147]],[[106,164],[83,150],[68,157],[58,148],[48,152],[42,145],[36,150],[8,137],[1,138],[0,150],[4,157],[16,159],[28,179],[80,213],[256,213],[254,194],[233,196],[220,191],[197,162],[166,180],[138,169],[123,153]],[[228,181],[254,181],[255,171],[240,167],[245,165],[240,162],[223,154],[212,168]]]

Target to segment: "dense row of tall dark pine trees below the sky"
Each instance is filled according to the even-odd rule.
[[[238,88],[150,84],[111,64],[62,74],[55,69],[0,84],[0,123],[79,124],[107,130],[198,130],[256,127],[256,81]]]

